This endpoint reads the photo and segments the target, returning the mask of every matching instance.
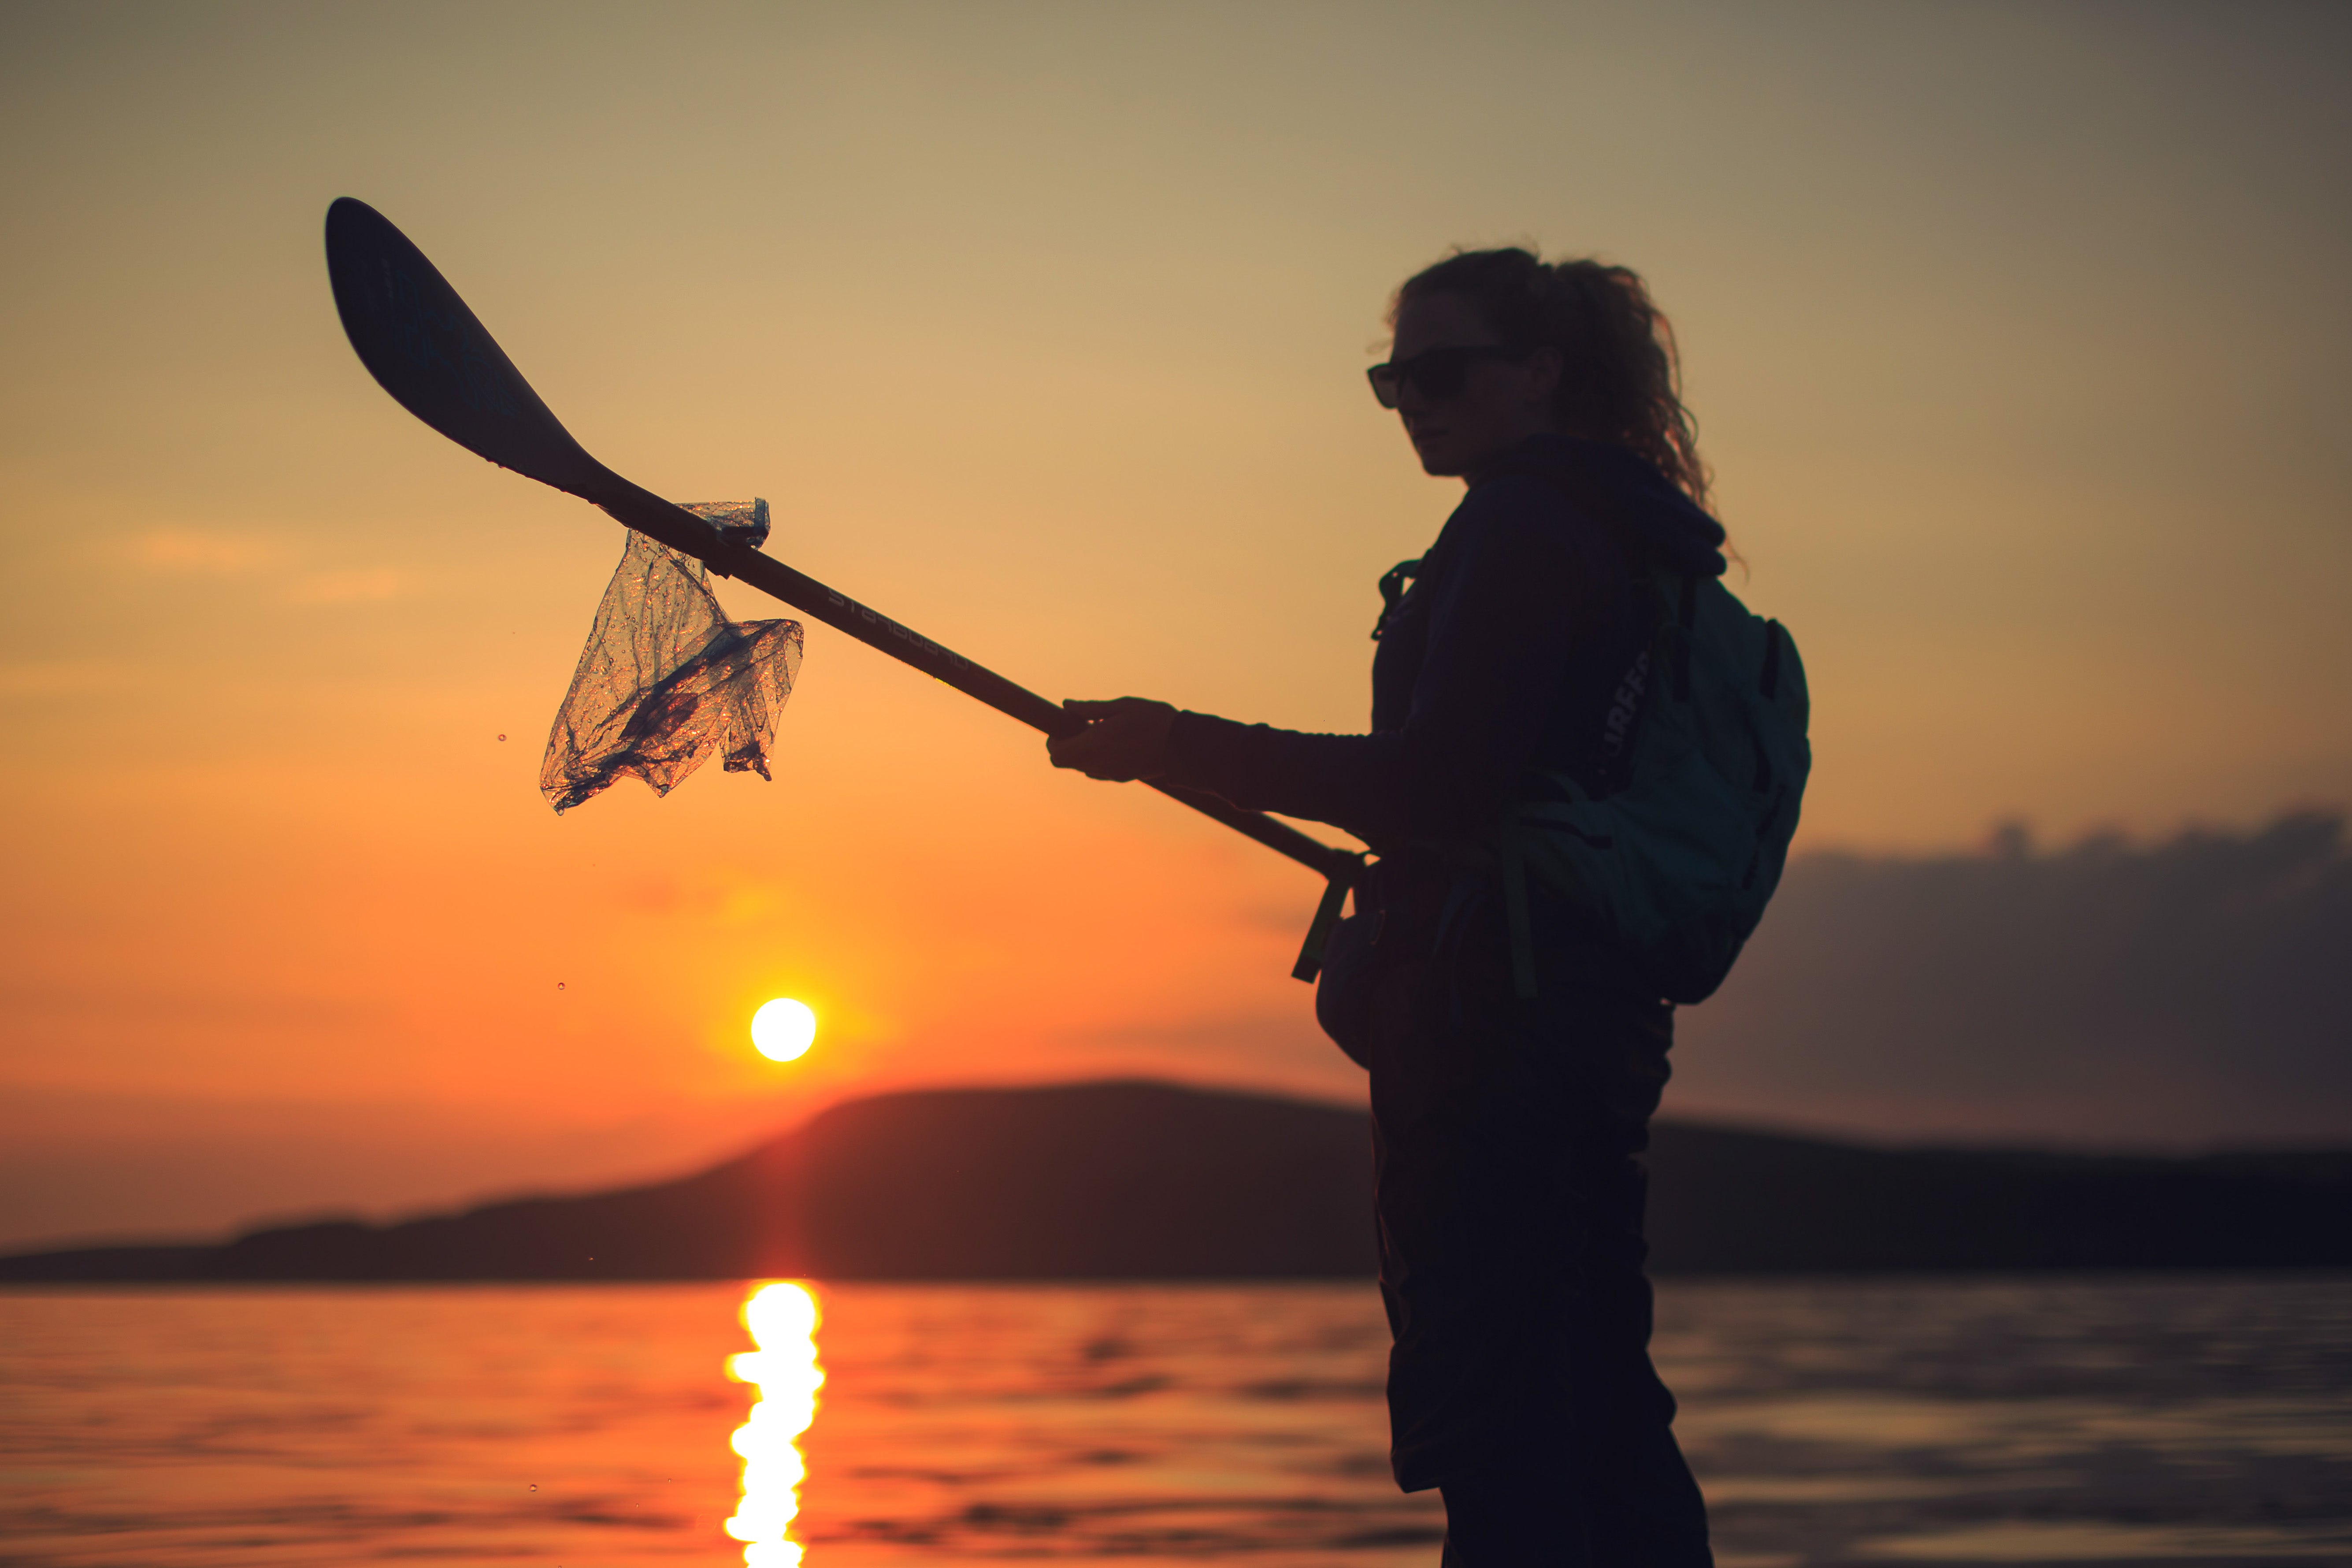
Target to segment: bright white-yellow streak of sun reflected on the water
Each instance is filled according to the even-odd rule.
[[[753,1345],[727,1356],[727,1375],[757,1385],[760,1399],[736,1427],[734,1450],[743,1455],[743,1502],[727,1533],[743,1544],[750,1568],[797,1568],[800,1542],[800,1434],[816,1420],[816,1389],[826,1371],[816,1363],[816,1293],[797,1284],[760,1286],[743,1300],[743,1326]]]

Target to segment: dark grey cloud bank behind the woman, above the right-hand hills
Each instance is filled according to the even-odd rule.
[[[1891,1138],[2352,1140],[2343,816],[2037,853],[1806,856],[1675,1105]]]

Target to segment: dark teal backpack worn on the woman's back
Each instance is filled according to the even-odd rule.
[[[1780,886],[1813,766],[1797,644],[1719,578],[1639,567],[1651,637],[1609,705],[1595,764],[1545,766],[1512,806],[1503,865],[1512,985],[1536,994],[1526,879],[1597,914],[1635,978],[1705,1001]]]

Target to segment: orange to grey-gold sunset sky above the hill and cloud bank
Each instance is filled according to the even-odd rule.
[[[332,197],[640,484],[1047,696],[1310,729],[1458,494],[1364,393],[1388,292],[1637,266],[1811,670],[1799,844],[1933,856],[2352,799],[2347,63],[2263,5],[0,9],[0,1241],[891,1084],[1359,1093],[1303,872],[823,625],[774,785],[557,820],[619,527],[360,371]]]

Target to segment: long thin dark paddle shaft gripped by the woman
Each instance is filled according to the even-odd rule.
[[[891,658],[955,686],[964,696],[976,696],[997,712],[1021,719],[1030,729],[1042,729],[1049,736],[1068,736],[1084,729],[1084,722],[1065,712],[1061,703],[1049,703],[1028,686],[1016,686],[995,670],[971,663],[962,654],[898,625],[880,611],[866,609],[849,595],[826,588],[802,571],[793,571],[774,555],[764,555],[741,541],[727,538],[682,505],[663,501],[654,491],[630,484],[612,470],[604,470],[604,475],[609,477],[609,484],[597,484],[595,494],[588,494],[586,498],[640,534],[659,538],[673,550],[682,550],[684,555],[701,559],[720,576],[741,578],[760,592],[783,599],[793,609],[814,616],[835,630],[849,632],[866,646],[880,649]],[[1324,910],[1317,912],[1317,926],[1322,929],[1327,929],[1329,917],[1336,917],[1338,912],[1338,893],[1352,886],[1357,875],[1364,870],[1362,856],[1345,849],[1331,849],[1296,827],[1277,823],[1263,811],[1242,811],[1240,806],[1232,806],[1216,795],[1207,795],[1204,790],[1188,790],[1183,785],[1152,780],[1145,783],[1169,799],[1178,799],[1202,816],[1211,816],[1225,827],[1232,827],[1235,832],[1319,872],[1329,882]],[[1312,947],[1319,957],[1322,945],[1312,943]]]

